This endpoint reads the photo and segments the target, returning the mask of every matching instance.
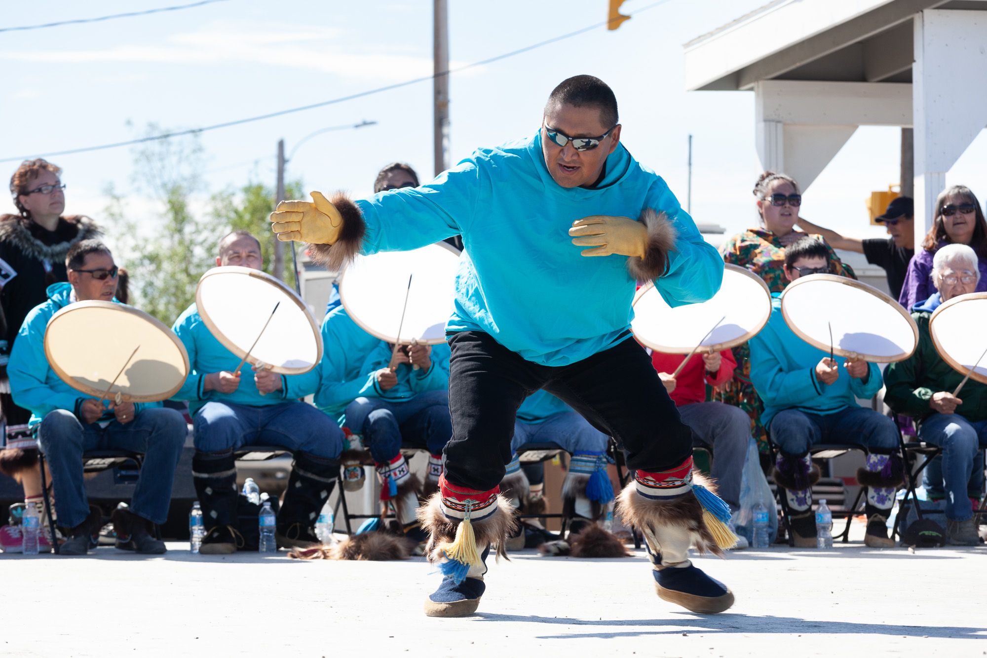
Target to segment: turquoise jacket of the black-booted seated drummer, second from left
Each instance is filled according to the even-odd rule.
[[[211,400],[265,407],[286,400],[297,400],[314,393],[319,388],[320,369],[316,366],[305,374],[282,374],[281,390],[262,395],[254,383],[254,371],[250,369],[249,364],[244,364],[240,386],[235,391],[232,393],[207,391],[204,387],[206,374],[221,370],[232,371],[240,364],[240,359],[223,347],[223,344],[209,332],[194,303],[175,320],[172,331],[186,346],[190,364],[189,378],[174,397],[176,400],[188,400],[191,414]]]

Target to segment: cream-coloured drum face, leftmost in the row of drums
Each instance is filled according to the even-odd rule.
[[[55,313],[44,353],[65,383],[99,397],[109,389],[111,399],[119,392],[133,402],[164,400],[189,374],[189,356],[168,327],[109,301],[82,301]]]

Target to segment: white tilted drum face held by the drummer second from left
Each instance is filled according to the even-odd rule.
[[[308,309],[293,290],[263,272],[240,267],[209,270],[199,280],[195,301],[213,336],[240,359],[249,351],[253,366],[300,374],[322,359],[322,335]]]

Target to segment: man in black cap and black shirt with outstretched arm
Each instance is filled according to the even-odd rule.
[[[826,239],[834,249],[846,249],[864,254],[871,265],[879,265],[887,273],[887,288],[895,299],[901,294],[901,286],[905,283],[905,273],[908,271],[908,261],[915,254],[915,234],[912,232],[912,221],[915,210],[910,197],[898,197],[884,210],[884,214],[874,217],[887,228],[889,238],[860,238],[844,237],[836,231],[817,226],[802,217],[798,217],[798,226],[808,233],[818,233]],[[794,233],[800,237],[798,233]]]

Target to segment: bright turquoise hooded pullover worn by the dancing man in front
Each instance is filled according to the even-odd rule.
[[[418,188],[358,201],[362,252],[422,247],[461,234],[465,252],[446,331],[484,331],[524,359],[566,366],[630,336],[636,284],[626,256],[586,258],[569,227],[594,214],[667,213],[678,231],[668,273],[655,285],[672,306],[720,289],[723,262],[665,182],[619,145],[593,189],[549,174],[538,133],[481,149]]]

